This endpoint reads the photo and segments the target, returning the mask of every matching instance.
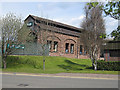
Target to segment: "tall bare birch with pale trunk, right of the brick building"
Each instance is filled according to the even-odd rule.
[[[86,5],[86,17],[81,24],[83,28],[81,41],[84,45],[84,49],[89,54],[94,70],[97,70],[97,59],[103,42],[100,35],[105,34],[104,20],[99,6],[98,4],[96,7],[89,9],[89,6]]]

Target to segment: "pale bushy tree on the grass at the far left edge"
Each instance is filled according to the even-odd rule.
[[[21,18],[16,17],[13,13],[6,14],[1,18],[2,31],[2,60],[6,68],[6,57],[11,52],[8,48],[13,42],[17,41],[17,32],[22,26]]]

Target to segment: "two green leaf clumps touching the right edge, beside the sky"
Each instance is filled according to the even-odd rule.
[[[113,0],[112,2],[108,2],[104,6],[103,11],[106,15],[110,15],[112,18],[120,20],[120,1]],[[116,30],[113,30],[110,35],[114,40],[120,40],[120,26],[118,26]]]

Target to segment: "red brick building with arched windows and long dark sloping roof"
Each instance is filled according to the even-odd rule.
[[[25,22],[33,30],[38,43],[42,43],[43,37],[47,35],[50,56],[88,58],[79,38],[82,31],[80,28],[33,15],[29,15]]]

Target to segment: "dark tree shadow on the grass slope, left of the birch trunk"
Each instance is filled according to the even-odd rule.
[[[69,71],[69,70],[83,70],[84,68],[88,67],[87,65],[74,63],[70,60],[65,60],[64,62],[65,62],[65,64],[61,64],[58,66],[60,68],[67,70],[67,71]]]

